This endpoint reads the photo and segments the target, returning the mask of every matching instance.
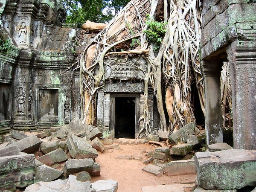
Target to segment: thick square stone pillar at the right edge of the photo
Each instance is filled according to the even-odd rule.
[[[227,47],[232,83],[234,148],[256,150],[256,41]]]

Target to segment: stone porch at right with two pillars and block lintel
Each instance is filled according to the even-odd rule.
[[[202,2],[201,59],[208,145],[223,142],[220,75],[223,61],[229,61],[234,148],[256,150],[256,3],[251,2]]]

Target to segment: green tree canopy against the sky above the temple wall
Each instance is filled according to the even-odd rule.
[[[107,23],[130,0],[64,0],[67,9],[66,23],[84,23],[90,20]]]

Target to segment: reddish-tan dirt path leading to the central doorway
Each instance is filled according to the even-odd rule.
[[[149,144],[140,145],[119,145],[121,150],[108,150],[100,153],[96,162],[101,167],[101,176],[92,177],[92,181],[113,179],[118,181],[119,192],[141,192],[142,186],[166,185],[166,184],[187,184],[194,183],[196,175],[166,176],[157,177],[144,172],[143,161],[146,152],[155,149]],[[133,155],[142,157],[140,160],[126,160],[117,158],[119,155]]]

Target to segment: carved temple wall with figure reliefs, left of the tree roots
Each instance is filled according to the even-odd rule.
[[[62,3],[4,0],[0,16],[1,41],[11,42],[0,51],[0,132],[62,125],[79,116],[79,72],[65,72],[75,61],[77,32],[75,25],[62,25]]]

